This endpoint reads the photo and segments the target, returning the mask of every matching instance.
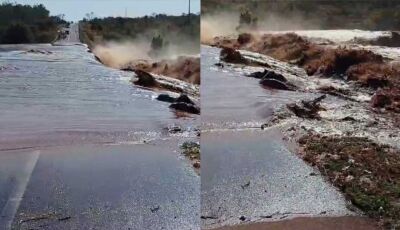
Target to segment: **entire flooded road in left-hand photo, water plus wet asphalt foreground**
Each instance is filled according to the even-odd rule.
[[[0,46],[0,229],[198,229],[200,178],[179,149],[197,116],[98,63],[76,31]]]

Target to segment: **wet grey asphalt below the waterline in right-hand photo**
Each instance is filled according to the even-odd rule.
[[[351,214],[340,193],[291,153],[277,132],[203,133],[201,146],[204,227]]]

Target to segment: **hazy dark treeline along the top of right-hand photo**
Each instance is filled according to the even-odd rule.
[[[202,14],[249,11],[257,21],[270,14],[302,18],[315,29],[400,30],[398,0],[202,0]],[[312,29],[312,28],[308,28]]]

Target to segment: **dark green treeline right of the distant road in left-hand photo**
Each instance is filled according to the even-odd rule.
[[[200,15],[171,16],[158,14],[139,18],[93,18],[80,23],[80,38],[89,46],[104,41],[124,41],[136,38],[152,40],[160,36],[169,43],[182,39],[200,43]]]

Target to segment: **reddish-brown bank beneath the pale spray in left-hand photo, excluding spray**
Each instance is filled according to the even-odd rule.
[[[177,78],[193,84],[200,84],[200,58],[178,57],[173,60],[148,61],[138,60],[131,62],[124,70],[142,70],[154,74],[161,74]]]

